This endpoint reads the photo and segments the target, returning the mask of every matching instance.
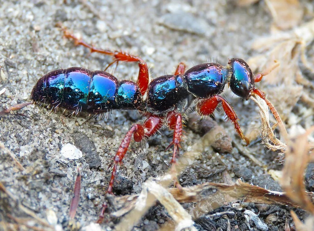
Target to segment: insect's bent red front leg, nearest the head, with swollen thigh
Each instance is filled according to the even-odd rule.
[[[231,120],[231,123],[233,123],[236,132],[240,135],[240,137],[246,142],[246,146],[250,144],[250,140],[243,135],[243,132],[240,128],[240,125],[238,123],[238,116],[236,115],[236,112],[233,110],[233,108],[228,104],[228,102],[222,98],[220,95],[215,95],[209,99],[203,99],[198,102],[198,112],[201,115],[210,115],[214,112],[217,105],[221,103],[222,107],[227,115],[227,118]]]

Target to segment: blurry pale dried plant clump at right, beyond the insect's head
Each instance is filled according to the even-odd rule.
[[[260,84],[261,89],[266,89],[267,98],[275,105],[282,120],[287,122],[287,128],[296,123],[288,118],[291,118],[291,111],[299,99],[310,106],[314,104],[314,85],[302,75],[299,66],[301,59],[303,65],[314,73],[313,65],[307,61],[305,54],[306,45],[313,39],[314,19],[291,31],[273,32],[270,36],[258,38],[252,43],[252,49],[260,53],[248,61],[253,71],[263,71],[272,66],[274,61],[280,63]],[[257,124],[250,130],[253,131],[249,137],[254,139],[260,129]]]

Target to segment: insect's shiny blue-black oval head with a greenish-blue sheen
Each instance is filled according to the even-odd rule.
[[[231,66],[230,89],[243,99],[250,97],[250,92],[254,88],[254,78],[251,68],[242,59],[230,59]]]

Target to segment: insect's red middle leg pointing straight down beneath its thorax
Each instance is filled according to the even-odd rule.
[[[179,152],[180,141],[182,137],[182,115],[180,113],[175,113],[173,111],[169,112],[167,115],[167,123],[169,129],[173,129],[173,139],[172,142],[169,144],[169,146],[166,148],[170,148],[173,145],[173,154],[171,159],[171,171],[175,175],[174,178],[174,184],[177,188],[181,188],[181,185],[178,182],[177,179],[177,173],[176,173],[176,157],[177,152]]]

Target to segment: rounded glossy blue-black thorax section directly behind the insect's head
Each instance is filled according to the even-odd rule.
[[[187,89],[198,98],[220,94],[227,80],[226,70],[218,63],[203,63],[184,74]]]

